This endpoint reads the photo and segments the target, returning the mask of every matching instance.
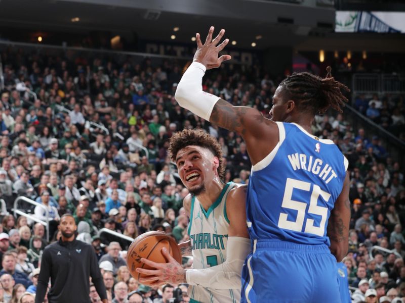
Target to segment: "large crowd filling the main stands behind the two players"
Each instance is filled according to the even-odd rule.
[[[70,213],[77,239],[94,247],[113,302],[143,297],[166,303],[174,293],[187,302],[186,285],[156,289],[138,284],[125,262],[130,242],[100,230],[131,238],[160,230],[178,242],[187,240],[182,200],[188,190],[168,158],[168,140],[185,127],[206,130],[222,146],[224,181],[248,183],[251,163],[241,137],[177,105],[173,96],[184,65],[175,60],[155,64],[27,49],[6,49],[2,58],[6,89],[0,93],[0,195],[6,207],[0,225],[0,299],[14,302],[24,291],[35,292],[42,251],[59,239],[58,221]],[[208,72],[203,86],[233,105],[255,107],[267,116],[278,81],[256,67],[226,65]],[[350,285],[357,289],[354,301],[366,299],[365,285],[376,289],[379,298],[394,290],[404,297],[405,191],[399,162],[378,137],[352,129],[344,114],[316,116],[313,133],[334,140],[349,159],[352,219],[344,263]],[[19,204],[36,219],[49,221],[49,239],[41,223],[7,213],[17,196],[47,209]],[[191,262],[184,259],[184,266]],[[94,286],[90,296],[97,302]]]

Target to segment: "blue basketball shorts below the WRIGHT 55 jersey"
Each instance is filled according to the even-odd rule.
[[[327,245],[257,240],[242,269],[240,302],[340,303]]]

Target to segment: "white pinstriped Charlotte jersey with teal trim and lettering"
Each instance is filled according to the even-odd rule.
[[[229,220],[226,216],[226,197],[236,183],[227,183],[215,203],[206,211],[193,196],[191,198],[188,234],[192,245],[194,269],[219,265],[226,260]],[[198,282],[197,282],[198,283]],[[240,301],[240,288],[215,289],[190,285],[190,302],[236,303]]]

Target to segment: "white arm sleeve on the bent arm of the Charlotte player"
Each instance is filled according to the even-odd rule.
[[[250,239],[229,237],[226,244],[226,261],[206,269],[188,269],[187,283],[216,289],[240,288],[242,265],[250,251]]]

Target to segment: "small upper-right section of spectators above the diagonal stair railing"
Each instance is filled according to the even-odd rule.
[[[354,108],[373,122],[405,141],[404,94],[366,95],[354,99]]]

